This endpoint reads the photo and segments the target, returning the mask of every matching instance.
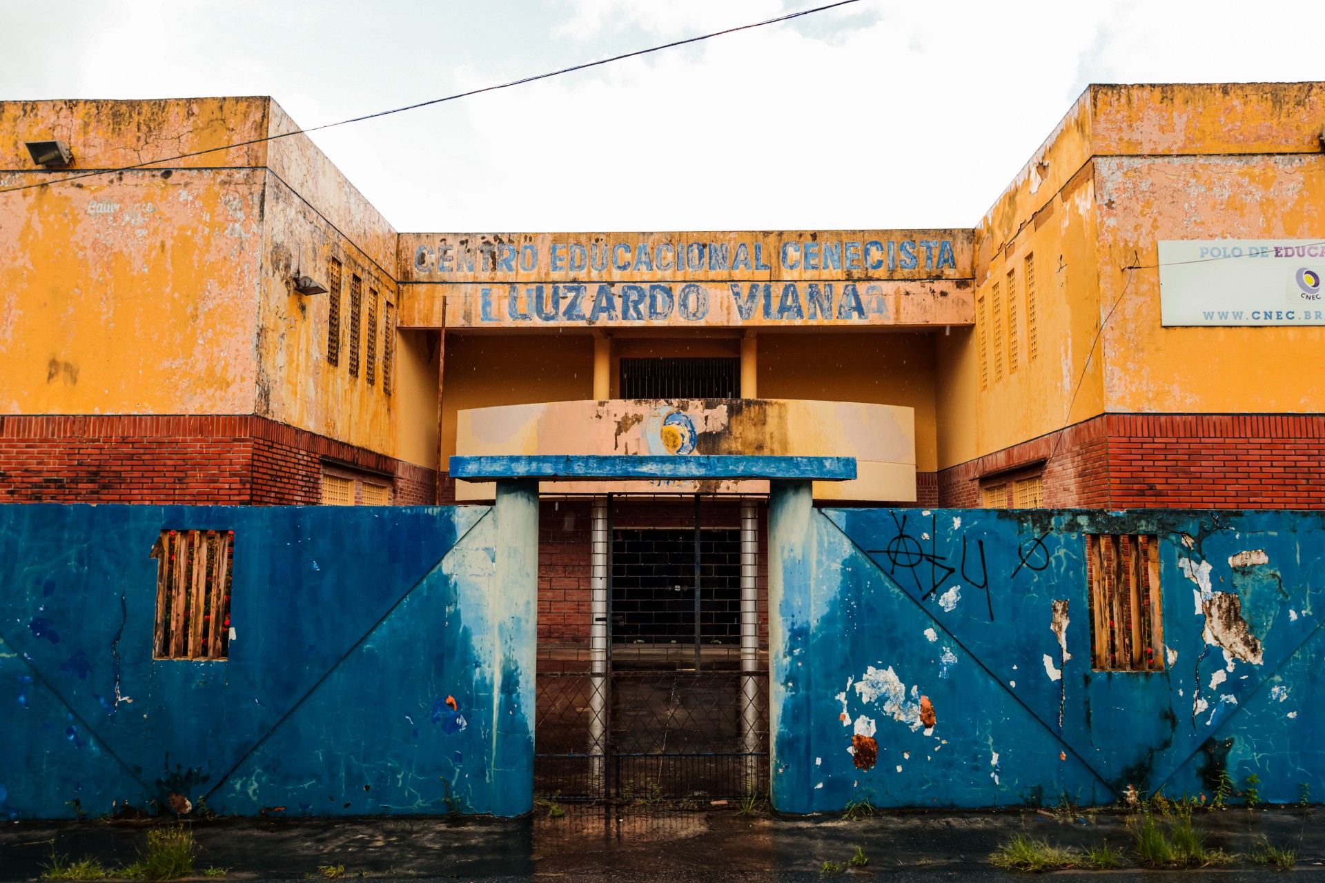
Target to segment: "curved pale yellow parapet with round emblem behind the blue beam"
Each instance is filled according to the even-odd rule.
[[[554,401],[461,410],[461,455],[763,454],[855,457],[857,478],[815,482],[816,499],[914,502],[910,408],[778,398]],[[766,494],[767,482],[562,482],[547,492]],[[492,485],[457,482],[457,499],[490,499]]]

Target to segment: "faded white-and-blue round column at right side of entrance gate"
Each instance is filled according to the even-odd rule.
[[[814,575],[812,482],[768,483],[768,797],[780,812],[810,812],[810,696],[814,671],[792,651],[810,643]],[[780,772],[779,772],[780,770]]]

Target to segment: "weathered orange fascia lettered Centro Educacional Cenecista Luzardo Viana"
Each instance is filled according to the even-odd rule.
[[[969,230],[420,233],[399,271],[401,327],[974,320]]]

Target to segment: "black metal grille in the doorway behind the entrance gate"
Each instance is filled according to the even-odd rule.
[[[698,543],[696,549],[693,530],[612,532],[613,642],[741,641],[741,531],[701,530]],[[694,589],[697,551],[698,604]]]

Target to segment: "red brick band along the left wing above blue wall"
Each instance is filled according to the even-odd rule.
[[[315,504],[322,458],[395,477],[431,503],[435,473],[262,417],[0,417],[0,502]]]

